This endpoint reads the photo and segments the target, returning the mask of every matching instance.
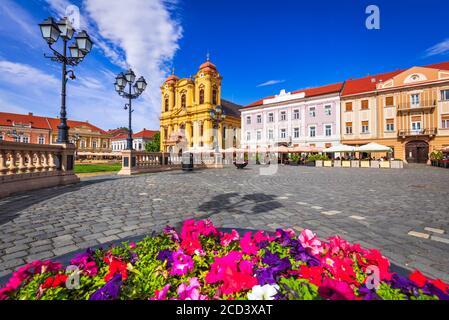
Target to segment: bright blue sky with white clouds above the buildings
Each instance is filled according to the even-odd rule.
[[[135,105],[139,130],[158,128],[159,86],[171,67],[194,75],[208,51],[223,98],[243,105],[284,88],[449,60],[445,0],[1,0],[1,111],[58,114],[60,66],[43,57],[37,24],[70,4],[96,45],[69,82],[69,117],[103,129],[126,125],[112,83],[127,66],[149,81]],[[365,27],[370,4],[380,30]]]

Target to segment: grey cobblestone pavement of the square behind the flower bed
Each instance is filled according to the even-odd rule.
[[[340,234],[449,281],[449,170],[259,169],[95,177],[1,199],[0,277],[28,261],[210,217],[220,227]]]

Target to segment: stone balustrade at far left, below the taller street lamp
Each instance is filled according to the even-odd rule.
[[[0,142],[0,198],[15,192],[75,183],[75,146]]]

